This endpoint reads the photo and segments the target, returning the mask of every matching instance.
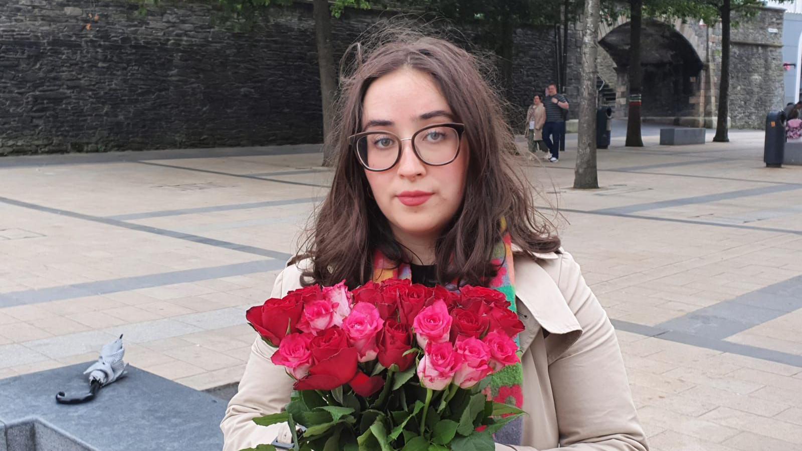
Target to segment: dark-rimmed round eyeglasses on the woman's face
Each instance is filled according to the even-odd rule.
[[[460,140],[465,124],[432,124],[421,128],[411,138],[399,138],[391,132],[361,132],[349,136],[351,148],[365,169],[387,171],[401,160],[402,141],[412,141],[412,152],[423,163],[444,166],[460,154]]]

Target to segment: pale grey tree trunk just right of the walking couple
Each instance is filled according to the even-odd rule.
[[[582,15],[582,48],[580,68],[579,136],[577,166],[573,170],[573,187],[599,187],[596,170],[596,56],[599,28],[599,0],[585,0]]]

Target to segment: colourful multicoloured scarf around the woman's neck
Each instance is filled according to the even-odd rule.
[[[517,312],[515,301],[515,270],[512,266],[512,238],[506,232],[506,223],[501,222],[504,237],[493,248],[492,263],[499,266],[496,277],[488,283],[489,288],[504,293],[509,301],[509,309]],[[377,251],[373,260],[373,281],[382,282],[388,278],[411,279],[411,266],[407,263],[397,264],[388,260]],[[456,283],[446,286],[451,291],[458,291]],[[518,340],[516,339],[516,342]],[[520,343],[518,343],[520,347]],[[514,404],[518,408],[524,407],[524,392],[522,391],[524,372],[520,364],[508,366],[492,375],[488,398],[496,402]],[[500,429],[494,436],[495,440],[505,445],[520,445],[523,436],[523,421],[519,417]]]

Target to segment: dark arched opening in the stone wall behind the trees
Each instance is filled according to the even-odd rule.
[[[614,63],[617,116],[623,117],[627,109],[630,22],[622,17],[613,25],[600,26],[598,39]],[[711,126],[707,30],[680,20],[667,23],[645,19],[641,46],[643,120]]]

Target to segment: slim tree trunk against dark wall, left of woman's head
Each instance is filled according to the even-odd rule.
[[[337,75],[334,72],[334,51],[331,49],[331,13],[327,0],[314,0],[314,36],[318,46],[320,95],[323,106],[323,165],[334,165],[334,148],[330,145],[330,132],[334,123],[334,95]]]

